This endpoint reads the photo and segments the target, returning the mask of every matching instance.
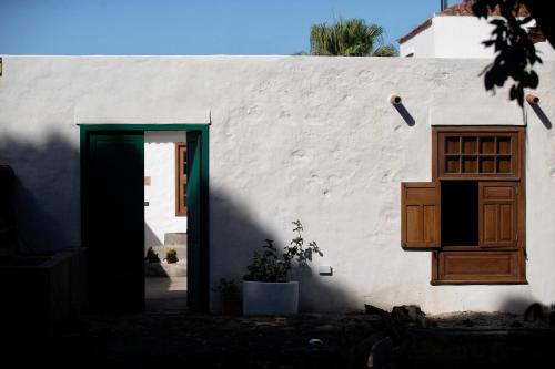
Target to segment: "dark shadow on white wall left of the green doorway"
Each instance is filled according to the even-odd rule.
[[[59,135],[36,144],[0,137],[0,163],[16,173],[21,253],[51,254],[80,244],[79,151]]]

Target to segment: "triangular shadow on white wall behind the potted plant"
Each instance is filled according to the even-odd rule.
[[[294,195],[294,194],[293,194]],[[252,260],[253,252],[261,250],[264,239],[270,238],[275,242],[280,250],[289,245],[294,234],[291,222],[297,218],[303,222],[305,217],[295,209],[286,219],[276,216],[276,224],[286,224],[284,233],[276,235],[268,227],[263,226],[256,214],[246,209],[236,201],[238,196],[232,193],[214,188],[210,189],[210,217],[211,217],[211,294],[214,297],[211,304],[212,311],[219,311],[218,296],[212,290],[218,286],[220,278],[234,279],[241,281],[248,274],[246,266]],[[302,198],[302,196],[299,196]],[[332,245],[317,234],[305,228],[303,233],[305,243],[315,239],[321,247],[324,257]],[[300,311],[301,312],[326,312],[326,311],[346,311],[362,310],[364,306],[357,306],[354,296],[337,281],[337,277],[321,276],[317,274],[317,266],[322,259],[316,256],[310,263],[312,270],[292,270],[292,279],[300,281]],[[240,285],[240,284],[238,284]]]

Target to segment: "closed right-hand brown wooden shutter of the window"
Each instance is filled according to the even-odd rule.
[[[480,182],[480,246],[517,246],[517,182]]]

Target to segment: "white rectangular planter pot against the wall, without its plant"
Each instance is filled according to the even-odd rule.
[[[291,315],[299,310],[299,281],[243,280],[243,315]]]

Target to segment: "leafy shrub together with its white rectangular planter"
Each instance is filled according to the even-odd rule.
[[[273,240],[266,239],[263,252],[254,252],[252,263],[243,277],[244,315],[290,315],[299,311],[299,281],[290,280],[293,263],[307,267],[314,254],[323,256],[313,240],[307,247],[302,237],[301,221],[293,222],[296,233],[289,246],[280,253]]]

